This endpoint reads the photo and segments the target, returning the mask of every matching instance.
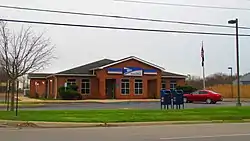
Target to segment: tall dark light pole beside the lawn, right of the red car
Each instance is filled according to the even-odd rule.
[[[240,64],[239,64],[239,28],[238,28],[238,19],[228,21],[228,24],[236,24],[236,61],[237,61],[237,106],[241,106],[240,102]]]

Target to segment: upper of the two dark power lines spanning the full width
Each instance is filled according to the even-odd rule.
[[[207,23],[197,23],[197,22],[183,22],[183,21],[172,21],[172,20],[159,20],[159,19],[149,19],[149,18],[127,17],[127,16],[118,16],[118,15],[80,13],[80,12],[38,9],[38,8],[27,8],[27,7],[6,6],[6,5],[0,5],[0,8],[19,9],[19,10],[28,10],[28,11],[39,11],[39,12],[49,12],[49,13],[60,13],[60,14],[70,14],[70,15],[82,15],[82,16],[95,16],[95,17],[108,17],[108,18],[118,18],[118,19],[130,19],[130,20],[151,21],[151,22],[161,22],[161,23],[187,24],[187,25],[196,25],[196,26],[235,28],[234,26],[227,26],[227,25],[220,25],[220,24],[207,24]],[[240,29],[250,29],[250,27],[239,27],[239,28]]]

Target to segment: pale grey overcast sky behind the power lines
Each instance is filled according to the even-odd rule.
[[[145,0],[146,1],[146,0]],[[148,0],[149,1],[149,0]],[[249,0],[151,0],[176,4],[196,4],[249,8]],[[227,24],[230,19],[239,18],[240,26],[250,27],[250,10],[222,10],[160,6],[115,2],[113,0],[0,0],[1,5],[46,8],[75,12],[112,14],[121,16]],[[39,20],[89,25],[150,28],[165,30],[186,30],[234,33],[234,29],[202,27],[146,21],[121,20],[90,16],[52,14],[0,8],[1,18]],[[19,30],[20,23],[9,27]],[[227,36],[190,35],[31,25],[37,33],[46,31],[56,45],[58,59],[42,72],[58,72],[99,59],[121,59],[137,56],[166,68],[166,71],[180,74],[202,75],[201,41],[204,41],[206,75],[226,72],[228,66],[236,70],[235,38]],[[250,34],[250,30],[240,30]],[[240,73],[250,72],[250,37],[240,38]]]

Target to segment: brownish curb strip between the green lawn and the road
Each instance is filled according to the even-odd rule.
[[[87,128],[87,127],[129,127],[175,124],[207,124],[207,123],[239,123],[250,122],[243,120],[212,120],[212,121],[162,121],[162,122],[123,122],[123,123],[75,123],[75,122],[37,122],[37,121],[10,121],[0,120],[0,127],[17,128]]]

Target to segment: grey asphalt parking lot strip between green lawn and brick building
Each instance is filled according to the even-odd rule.
[[[250,102],[243,103],[250,106]],[[219,107],[219,106],[235,106],[235,102],[220,102],[217,104],[205,103],[187,103],[185,108],[203,108],[203,107]],[[71,103],[71,104],[49,104],[42,107],[22,108],[25,110],[72,110],[72,109],[160,109],[159,102],[123,102],[123,103]],[[0,110],[4,110],[1,108]]]

